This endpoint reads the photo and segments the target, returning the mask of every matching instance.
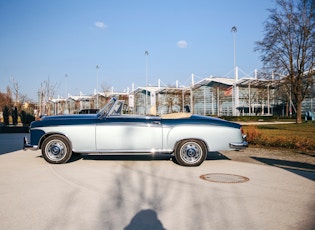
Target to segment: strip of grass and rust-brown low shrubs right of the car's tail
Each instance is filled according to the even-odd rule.
[[[243,126],[250,144],[315,151],[315,122]]]

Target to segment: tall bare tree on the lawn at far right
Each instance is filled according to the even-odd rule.
[[[296,122],[302,123],[302,102],[313,85],[315,29],[311,0],[276,0],[265,22],[264,38],[256,42],[264,67],[283,75],[295,104]]]

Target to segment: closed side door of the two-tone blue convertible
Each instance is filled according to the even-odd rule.
[[[163,148],[158,117],[110,116],[96,125],[99,152],[153,152]]]

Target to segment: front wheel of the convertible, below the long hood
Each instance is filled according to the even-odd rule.
[[[69,141],[61,135],[47,137],[42,145],[42,155],[52,164],[66,163],[72,155]]]

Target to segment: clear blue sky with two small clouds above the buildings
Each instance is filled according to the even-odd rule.
[[[145,86],[145,51],[151,85],[188,86],[192,73],[196,81],[233,77],[233,26],[236,64],[251,74],[262,67],[254,43],[273,7],[272,0],[3,0],[0,91],[12,77],[35,101],[48,78],[60,84],[56,97],[93,94],[97,75],[99,90]]]

